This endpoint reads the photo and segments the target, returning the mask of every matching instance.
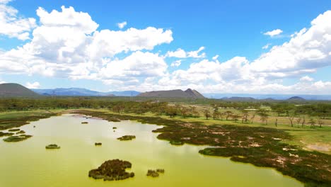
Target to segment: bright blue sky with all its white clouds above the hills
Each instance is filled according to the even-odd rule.
[[[330,0],[0,0],[0,83],[330,95],[330,73]]]

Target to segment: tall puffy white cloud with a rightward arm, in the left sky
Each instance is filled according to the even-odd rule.
[[[42,74],[50,77],[97,79],[98,72],[121,52],[153,50],[173,40],[171,30],[161,28],[125,31],[96,30],[88,13],[73,7],[50,13],[37,9],[40,26],[22,47],[0,54],[0,72]]]

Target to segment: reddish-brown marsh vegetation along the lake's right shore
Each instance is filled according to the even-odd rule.
[[[240,124],[221,120],[204,120],[202,118],[169,118],[146,115],[115,114],[106,111],[73,111],[91,115],[109,121],[137,120],[141,123],[163,125],[154,130],[160,133],[158,139],[169,142],[182,142],[192,145],[209,145],[199,151],[200,154],[231,157],[234,162],[244,162],[255,166],[272,167],[284,175],[302,181],[306,186],[331,185],[331,156],[323,152],[307,151],[298,143],[291,128],[268,127],[259,123]],[[329,127],[323,131],[330,132]],[[312,133],[308,128],[302,132]],[[327,141],[329,137],[325,137]],[[310,140],[315,142],[315,138]]]

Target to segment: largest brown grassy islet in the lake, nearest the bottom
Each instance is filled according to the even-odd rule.
[[[88,172],[88,177],[93,179],[103,179],[103,181],[118,181],[134,177],[134,173],[127,172],[125,169],[132,167],[132,164],[120,159],[112,159],[103,162],[98,169],[92,169]]]

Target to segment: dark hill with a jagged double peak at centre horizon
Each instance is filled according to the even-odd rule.
[[[140,97],[153,97],[153,98],[204,98],[202,94],[200,94],[196,90],[187,89],[186,91],[182,91],[180,89],[175,90],[165,90],[165,91],[147,91],[139,94]]]

